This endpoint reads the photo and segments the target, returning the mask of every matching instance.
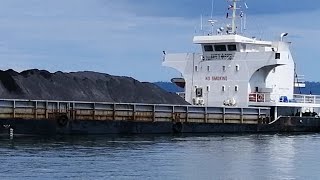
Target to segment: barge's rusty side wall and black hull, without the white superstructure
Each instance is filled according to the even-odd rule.
[[[270,108],[0,100],[0,134],[314,132],[320,121]]]

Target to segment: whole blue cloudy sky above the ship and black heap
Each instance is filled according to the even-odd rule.
[[[162,51],[199,52],[192,44],[228,23],[226,0],[1,0],[0,69],[96,71],[139,81],[169,81],[180,74],[162,67]],[[246,36],[287,41],[298,74],[320,81],[320,1],[246,0]],[[242,6],[244,7],[243,3]]]

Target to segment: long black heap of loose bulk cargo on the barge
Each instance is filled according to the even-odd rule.
[[[187,104],[174,93],[130,77],[97,72],[0,71],[0,99]]]

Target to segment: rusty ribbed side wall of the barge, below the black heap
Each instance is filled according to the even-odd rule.
[[[244,123],[270,117],[269,108],[0,99],[0,119]]]

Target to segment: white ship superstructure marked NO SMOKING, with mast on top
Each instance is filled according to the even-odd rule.
[[[238,0],[231,2],[231,25],[219,28],[216,35],[193,38],[202,53],[164,57],[163,65],[183,76],[185,100],[194,105],[219,107],[320,107],[317,96],[294,95],[294,86],[304,85],[295,82],[290,43],[283,41],[287,33],[275,42],[237,34],[236,19],[242,18],[243,12],[237,16]]]

